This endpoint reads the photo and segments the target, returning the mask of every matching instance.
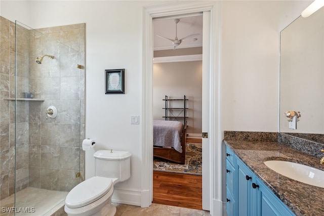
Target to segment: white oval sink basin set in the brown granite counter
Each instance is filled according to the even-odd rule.
[[[264,164],[282,176],[286,176],[302,183],[324,188],[323,170],[300,163],[283,160],[267,160],[264,162]]]

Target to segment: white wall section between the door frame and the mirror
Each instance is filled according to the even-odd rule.
[[[223,2],[223,131],[278,131],[279,32],[309,4]]]

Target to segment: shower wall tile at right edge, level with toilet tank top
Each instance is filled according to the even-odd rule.
[[[79,170],[80,148],[60,147],[60,169]]]

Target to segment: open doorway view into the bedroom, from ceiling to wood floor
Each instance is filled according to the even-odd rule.
[[[153,50],[153,203],[203,209],[203,13],[154,18]]]

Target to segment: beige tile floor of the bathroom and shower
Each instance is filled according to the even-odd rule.
[[[21,207],[34,207],[35,212],[29,213],[16,213],[16,215],[55,215],[55,216],[66,216],[62,206],[64,206],[64,200],[67,192],[50,191],[38,188],[26,188],[17,193],[17,204],[16,206]],[[14,196],[7,197],[0,200],[1,208],[13,207]],[[134,205],[126,205],[113,203],[116,205],[117,211],[115,216],[209,216],[209,211],[183,208],[171,205],[162,205],[152,203],[149,207],[141,208]],[[59,210],[58,210],[59,209]],[[57,211],[58,210],[58,211]],[[55,213],[56,212],[56,213]],[[1,216],[14,215],[14,213],[0,212]]]

